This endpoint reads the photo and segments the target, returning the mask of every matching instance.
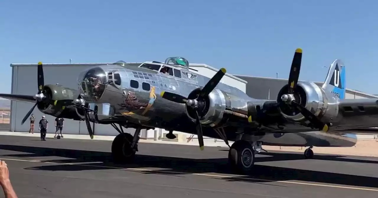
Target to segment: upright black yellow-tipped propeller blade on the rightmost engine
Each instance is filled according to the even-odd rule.
[[[289,94],[293,94],[299,79],[299,71],[301,70],[302,49],[295,50],[293,61],[291,62],[291,69],[289,75]]]

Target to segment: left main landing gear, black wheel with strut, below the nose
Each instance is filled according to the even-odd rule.
[[[130,162],[134,159],[135,153],[138,151],[138,141],[141,128],[135,130],[134,135],[124,133],[122,126],[118,127],[111,124],[119,134],[114,138],[112,143],[112,157],[116,162]]]

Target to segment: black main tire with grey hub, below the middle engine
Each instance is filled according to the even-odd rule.
[[[248,155],[249,159],[252,158],[247,160],[248,164],[243,162],[244,154]],[[244,140],[234,142],[228,152],[228,162],[238,173],[251,172],[255,163],[255,151],[251,144]]]

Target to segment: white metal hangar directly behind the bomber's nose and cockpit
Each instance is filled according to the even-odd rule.
[[[62,86],[78,89],[77,75],[96,65],[112,64],[112,63],[72,63],[72,64],[43,64],[43,73],[45,77],[45,84],[56,84],[59,83]],[[131,66],[139,66],[142,63],[127,63]],[[11,64],[12,67],[12,88],[11,94],[27,94],[34,95],[37,94],[37,64]],[[206,77],[213,77],[219,69],[212,68],[206,64],[189,64],[190,68],[197,71],[192,71]],[[222,83],[234,86],[243,92],[246,92],[246,81],[237,78],[233,75],[226,74],[222,78]],[[26,103],[20,101],[11,102],[11,120],[10,120],[10,131],[17,132],[28,132],[29,131],[29,120],[21,125],[21,121],[26,113],[33,107],[33,103]],[[37,108],[33,111],[36,120],[41,118],[42,112]],[[51,115],[46,115],[46,119],[50,121],[50,127],[48,127],[48,133],[55,133],[54,120],[55,117]],[[37,131],[38,127],[34,127],[34,131]],[[155,129],[159,130],[159,129]],[[135,129],[124,129],[125,132],[134,134]],[[88,134],[87,126],[85,121],[74,121],[65,120],[63,133],[65,134]],[[159,130],[161,136],[162,133],[166,133],[165,130]],[[95,135],[118,135],[118,132],[111,126],[107,124],[96,124],[95,125]],[[146,130],[141,131],[141,138],[153,138],[154,131]]]

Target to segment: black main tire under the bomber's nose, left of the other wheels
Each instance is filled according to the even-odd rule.
[[[129,163],[134,160],[135,149],[131,148],[133,136],[128,133],[118,134],[112,143],[112,158],[115,162]]]

